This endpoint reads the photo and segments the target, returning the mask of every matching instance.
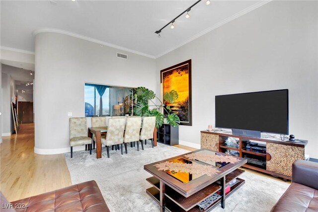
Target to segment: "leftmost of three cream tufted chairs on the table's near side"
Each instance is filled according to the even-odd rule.
[[[121,154],[123,152],[123,140],[125,131],[125,119],[109,119],[106,139],[101,138],[101,143],[106,145],[107,157],[109,157],[109,146],[121,145]]]

